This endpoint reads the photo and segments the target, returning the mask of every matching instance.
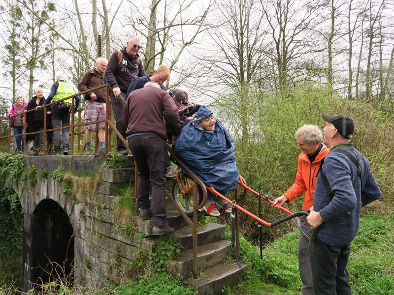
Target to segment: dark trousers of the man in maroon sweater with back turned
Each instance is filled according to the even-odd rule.
[[[153,225],[165,225],[164,190],[164,139],[156,135],[136,135],[129,139],[129,147],[138,168],[138,207],[150,207]],[[149,186],[152,185],[152,201],[149,201]]]

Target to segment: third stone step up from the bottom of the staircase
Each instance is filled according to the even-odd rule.
[[[207,245],[209,243],[219,241],[226,227],[221,224],[211,223],[202,227],[197,228],[197,246]],[[174,233],[174,241],[180,243],[182,249],[192,249],[193,248],[193,236],[192,229],[187,228],[183,230],[176,231]]]

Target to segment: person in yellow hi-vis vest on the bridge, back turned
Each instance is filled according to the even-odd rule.
[[[51,101],[58,101],[67,96],[75,94],[74,87],[72,84],[66,82],[66,77],[63,74],[56,76],[56,82],[52,85],[51,92],[45,101],[45,104],[51,103]],[[74,113],[78,110],[79,96],[74,97]],[[52,126],[53,128],[59,128],[68,126],[70,124],[72,98],[60,101],[51,106],[50,113],[52,114]],[[62,129],[63,134],[63,154],[68,155],[69,150],[69,128]],[[60,145],[60,130],[53,131],[53,137],[55,140],[55,155],[61,154]]]

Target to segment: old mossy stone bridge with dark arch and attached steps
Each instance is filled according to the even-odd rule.
[[[24,292],[59,277],[93,290],[108,281],[122,284],[133,274],[130,262],[155,251],[158,237],[149,237],[152,221],[141,220],[138,214],[122,215],[116,207],[120,190],[133,187],[132,156],[128,156],[129,167],[122,169],[101,168],[103,159],[96,156],[25,156],[24,160],[25,175],[18,185],[6,183],[18,194],[24,214]],[[73,174],[57,177],[59,167]],[[223,286],[235,285],[247,265],[223,264],[230,251],[230,241],[221,239],[225,227],[216,223],[198,227],[197,262],[204,275],[192,279],[191,229],[174,207],[166,208],[167,223],[175,228],[174,241],[183,249],[167,261],[167,271],[200,295],[220,294]],[[122,225],[128,221],[131,226],[125,233]]]

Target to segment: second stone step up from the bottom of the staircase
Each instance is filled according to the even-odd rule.
[[[223,262],[230,251],[230,241],[220,240],[197,248],[197,265],[200,269],[208,269]],[[172,277],[184,280],[193,270],[193,249],[180,253],[168,261],[167,271]]]

